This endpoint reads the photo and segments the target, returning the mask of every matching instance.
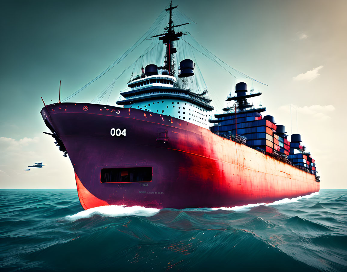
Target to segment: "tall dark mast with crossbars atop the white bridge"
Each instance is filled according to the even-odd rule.
[[[177,8],[178,6],[172,7],[172,1],[170,1],[170,8],[165,9],[166,11],[170,12],[170,19],[168,23],[168,27],[164,28],[164,30],[167,30],[167,32],[159,35],[152,36],[151,38],[158,37],[159,40],[163,41],[163,44],[167,45],[166,49],[166,55],[167,55],[167,60],[166,60],[166,69],[169,71],[169,74],[174,76],[175,74],[175,67],[174,63],[172,62],[172,54],[175,54],[177,52],[177,48],[174,47],[174,41],[179,40],[179,37],[183,35],[187,35],[188,33],[182,33],[180,32],[175,32],[174,28],[178,26],[183,26],[190,24],[190,22],[181,24],[181,25],[176,25],[174,26],[174,22],[172,21],[172,10]]]

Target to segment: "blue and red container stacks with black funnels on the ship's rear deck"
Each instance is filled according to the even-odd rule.
[[[293,165],[303,167],[306,171],[316,174],[316,165],[310,153],[304,153],[299,134],[291,135],[291,142],[285,127],[276,125],[274,118],[270,115],[262,116],[260,112],[266,108],[249,109],[253,107],[247,102],[247,98],[258,96],[259,94],[246,94],[247,85],[244,82],[236,84],[237,96],[228,97],[227,101],[236,100],[238,112],[230,112],[232,108],[223,109],[229,111],[225,114],[216,114],[215,123],[211,131],[223,137],[230,138],[231,135],[242,135],[247,138],[246,144],[254,149],[261,149],[270,154],[274,154],[278,160],[291,162]],[[236,108],[235,108],[236,109]],[[289,159],[289,161],[288,161]],[[317,178],[317,177],[316,177]]]

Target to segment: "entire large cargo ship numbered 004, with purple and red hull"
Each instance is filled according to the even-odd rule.
[[[289,142],[265,107],[251,105],[260,92],[239,82],[226,99],[234,105],[212,116],[208,91],[188,86],[196,67],[176,65],[175,42],[186,33],[175,31],[185,25],[174,25],[175,8],[166,9],[164,33],[151,36],[166,47],[164,64],[132,76],[117,106],[61,102],[59,93],[41,110],[44,133],[73,165],[82,207],[234,207],[318,192],[301,136]]]

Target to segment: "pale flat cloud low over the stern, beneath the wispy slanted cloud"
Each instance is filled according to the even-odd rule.
[[[313,116],[317,120],[328,120],[331,117],[329,116],[329,112],[335,110],[335,107],[332,105],[321,106],[321,105],[312,105],[312,106],[304,106],[304,107],[294,107],[294,111],[297,110],[304,116]],[[279,107],[281,111],[290,111],[290,105],[284,105]]]

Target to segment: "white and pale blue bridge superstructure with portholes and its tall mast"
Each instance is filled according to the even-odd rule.
[[[177,48],[174,47],[174,41],[187,33],[175,32],[174,28],[189,23],[174,25],[172,10],[175,8],[177,6],[172,7],[171,2],[170,8],[166,9],[170,14],[168,27],[165,28],[167,31],[151,37],[158,37],[166,45],[164,65],[158,67],[156,64],[148,64],[145,69],[142,68],[141,76],[128,82],[129,90],[121,92],[125,99],[116,103],[125,108],[156,112],[208,128],[213,107],[210,105],[212,100],[206,96],[207,90],[198,94],[178,86],[174,58]],[[178,79],[193,76],[194,69],[192,60],[182,60],[178,67]]]

